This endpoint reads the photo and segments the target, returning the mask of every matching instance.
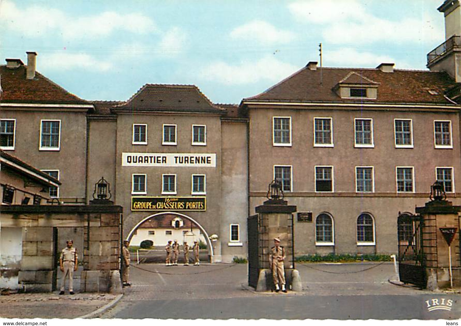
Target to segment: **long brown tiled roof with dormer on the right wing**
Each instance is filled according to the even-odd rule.
[[[351,73],[355,73],[352,74],[354,79],[359,76],[366,78],[367,84],[378,83],[378,98],[360,99],[360,102],[449,104],[449,100],[443,96],[444,92],[456,85],[445,72],[394,70],[392,73],[385,73],[379,69],[324,67],[309,70],[304,67],[265,92],[243,99],[243,101],[357,101],[356,99],[342,99],[335,92],[335,86]],[[352,81],[349,79],[348,83]],[[358,82],[358,80],[353,82]],[[432,95],[429,91],[436,94]]]

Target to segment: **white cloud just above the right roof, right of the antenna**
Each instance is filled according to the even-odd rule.
[[[340,67],[378,67],[381,63],[395,63],[395,59],[371,52],[359,52],[354,48],[344,47],[334,51],[324,51],[323,60],[328,66]]]

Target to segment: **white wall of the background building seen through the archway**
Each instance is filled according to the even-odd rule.
[[[171,235],[165,235],[166,230],[171,231]],[[154,231],[155,235],[148,235],[148,231]],[[166,245],[169,240],[173,242],[177,240],[179,244],[183,244],[184,241],[187,241],[189,245],[194,244],[195,240],[201,240],[206,243],[205,237],[200,234],[199,228],[192,229],[192,233],[194,233],[193,237],[184,237],[183,231],[190,231],[190,228],[138,228],[136,234],[131,238],[130,245],[140,245],[143,240],[154,241],[154,246]]]

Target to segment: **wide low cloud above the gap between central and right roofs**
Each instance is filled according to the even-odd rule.
[[[216,61],[202,70],[200,76],[207,81],[226,85],[243,85],[260,81],[278,82],[290,76],[298,68],[272,56],[265,56],[256,62],[241,62],[230,65]]]

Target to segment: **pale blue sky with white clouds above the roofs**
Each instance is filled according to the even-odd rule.
[[[238,104],[309,61],[426,70],[445,41],[443,0],[0,0],[0,62],[36,69],[87,100],[146,83],[194,84]]]

